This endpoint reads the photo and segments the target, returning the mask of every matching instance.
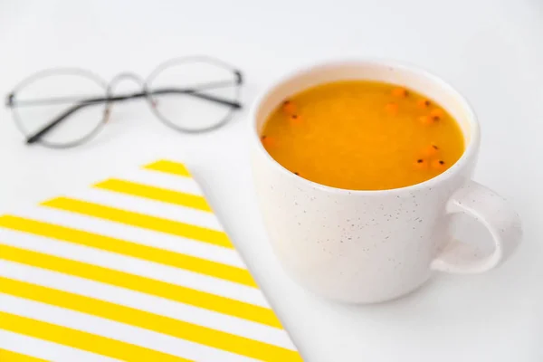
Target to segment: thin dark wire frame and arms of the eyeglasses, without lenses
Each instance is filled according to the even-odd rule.
[[[152,90],[152,91],[148,90],[148,84],[152,83],[152,81],[157,77],[158,74],[160,74],[161,71],[164,71],[165,69],[173,65],[182,64],[182,63],[190,63],[190,62],[209,62],[210,64],[213,64],[214,66],[224,68],[227,71],[232,71],[233,81],[207,82],[203,84],[196,84],[194,86],[191,86],[190,88],[161,88],[161,89]],[[24,86],[32,83],[33,81],[41,79],[43,77],[59,74],[61,72],[63,74],[84,75],[90,80],[95,81],[98,85],[100,85],[100,87],[104,88],[105,97],[91,97],[87,99],[50,98],[50,99],[44,99],[44,100],[23,100],[23,101],[16,99],[17,91],[23,89]],[[122,79],[131,79],[133,81],[138,82],[141,85],[142,90],[137,93],[122,94],[122,95],[116,95],[116,96],[112,95],[113,87]],[[214,89],[218,89],[222,87],[230,87],[233,85],[236,86],[235,96],[237,100],[224,100],[220,97],[215,97],[210,94],[205,94],[205,90],[214,90]],[[34,143],[40,143],[40,144],[43,144],[43,146],[50,147],[50,148],[71,148],[71,147],[81,145],[82,143],[88,141],[90,138],[93,138],[96,134],[98,134],[100,130],[103,128],[103,126],[108,122],[111,105],[113,103],[121,102],[125,100],[136,100],[140,98],[147,99],[151,110],[153,111],[153,113],[158,119],[162,120],[170,128],[176,129],[181,132],[203,133],[203,132],[207,132],[213,129],[221,128],[230,119],[232,119],[233,111],[229,112],[224,117],[224,119],[221,119],[219,122],[215,123],[214,125],[210,127],[206,127],[203,129],[187,129],[175,124],[174,122],[168,120],[162,114],[160,114],[160,112],[158,112],[156,108],[155,101],[153,100],[152,97],[155,95],[161,95],[161,94],[184,94],[189,97],[195,97],[200,100],[207,100],[215,104],[228,107],[231,110],[240,110],[242,109],[242,104],[239,102],[241,85],[243,85],[242,71],[236,68],[233,68],[233,66],[225,62],[222,62],[218,59],[214,59],[207,56],[191,56],[191,57],[184,57],[184,58],[175,58],[170,61],[163,62],[154,71],[151,72],[147,80],[143,80],[137,74],[133,74],[129,72],[123,72],[123,73],[118,74],[108,83],[106,81],[103,81],[98,75],[90,71],[85,71],[78,68],[59,68],[59,69],[40,71],[26,78],[24,81],[21,81],[19,84],[17,84],[17,86],[14,87],[14,90],[12,90],[7,95],[6,100],[5,100],[5,106],[13,111],[13,116],[14,116],[14,120],[17,125],[17,128],[20,129],[24,135],[28,135],[30,132],[28,132],[27,129],[24,129],[23,122],[21,121],[21,118],[16,111],[17,108],[25,107],[25,106],[52,105],[52,104],[76,101],[75,105],[72,105],[71,108],[69,108],[68,110],[65,110],[64,112],[59,114],[57,117],[52,119],[45,126],[43,126],[42,129],[35,131],[30,136],[26,136],[26,144],[28,145],[32,145]],[[78,112],[79,110],[82,110],[82,109],[85,109],[87,107],[90,107],[92,105],[97,105],[97,104],[105,104],[104,113],[103,113],[100,123],[88,135],[82,138],[79,138],[77,140],[74,140],[72,142],[67,142],[67,143],[62,143],[62,144],[49,143],[43,140],[43,137],[45,135],[51,132],[52,129],[55,129],[56,127],[61,125],[62,122],[64,122],[66,119],[69,119],[72,114]]]

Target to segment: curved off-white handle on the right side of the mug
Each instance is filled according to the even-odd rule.
[[[467,243],[452,241],[433,260],[431,269],[460,274],[490,271],[504,262],[516,249],[522,236],[519,214],[491,189],[470,181],[456,191],[446,206],[447,214],[467,214],[491,233],[494,251],[481,256]]]

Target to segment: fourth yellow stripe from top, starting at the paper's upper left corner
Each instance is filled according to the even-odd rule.
[[[251,273],[246,269],[220,262],[211,262],[179,252],[169,252],[139,243],[130,243],[96,233],[87,233],[81,230],[47,224],[13,215],[0,216],[0,227],[24,233],[33,233],[68,243],[90,246],[107,252],[116,252],[150,262],[158,262],[256,288],[256,283],[253,281]]]

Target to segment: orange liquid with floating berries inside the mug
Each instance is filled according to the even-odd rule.
[[[451,167],[464,150],[456,120],[433,100],[392,84],[337,81],[285,100],[262,130],[283,167],[326,186],[411,186]]]

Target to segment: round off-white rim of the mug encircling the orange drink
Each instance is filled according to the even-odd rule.
[[[388,188],[388,189],[383,189],[383,190],[356,190],[356,189],[349,189],[349,188],[339,188],[335,186],[327,186],[327,185],[319,184],[318,182],[315,182],[315,181],[311,181],[304,177],[296,176],[293,173],[291,173],[291,171],[289,171],[287,168],[283,167],[273,157],[271,157],[268,151],[266,151],[266,149],[263,147],[262,142],[260,141],[260,134],[257,129],[256,116],[262,106],[262,101],[268,98],[274,90],[277,90],[279,87],[281,87],[282,84],[288,81],[291,81],[295,78],[298,78],[301,75],[306,75],[315,71],[322,71],[329,67],[338,68],[342,66],[346,67],[346,66],[356,66],[356,65],[378,65],[378,66],[383,66],[383,67],[392,67],[395,70],[399,70],[399,71],[411,71],[412,73],[416,74],[418,77],[423,77],[429,81],[432,81],[434,84],[438,85],[441,89],[448,90],[455,97],[457,97],[458,100],[460,100],[460,102],[462,103],[463,109],[466,111],[465,117],[468,120],[468,123],[470,125],[471,133],[470,133],[470,141],[465,146],[462,156],[452,165],[452,167],[449,167],[447,170],[445,170],[443,173],[439,174],[438,176],[434,176],[421,183],[410,185],[410,186]],[[397,61],[391,61],[391,60],[381,60],[381,59],[372,59],[372,58],[359,58],[359,59],[351,59],[351,60],[332,60],[332,61],[325,61],[325,62],[317,62],[310,66],[299,67],[296,70],[290,71],[286,73],[286,75],[281,76],[277,81],[273,81],[271,85],[267,86],[265,90],[262,90],[260,94],[257,96],[256,100],[254,100],[252,103],[249,117],[251,119],[250,131],[251,131],[252,144],[258,149],[258,152],[263,153],[263,156],[266,157],[266,159],[271,162],[273,167],[276,167],[281,173],[285,174],[286,176],[292,177],[293,180],[297,180],[298,182],[305,183],[309,186],[313,186],[322,191],[331,192],[335,194],[347,194],[347,195],[389,194],[390,195],[390,194],[405,193],[405,192],[410,192],[410,191],[418,191],[421,189],[433,187],[437,184],[442,183],[444,180],[460,173],[462,169],[470,163],[472,158],[475,157],[478,151],[480,142],[481,142],[481,131],[480,131],[480,126],[479,126],[479,121],[477,120],[477,117],[472,108],[472,105],[470,104],[468,100],[466,100],[462,96],[462,93],[460,93],[458,90],[452,87],[452,85],[449,82],[444,81],[441,77],[433,74],[430,71],[426,71],[419,66],[414,66],[406,62],[397,62]],[[464,135],[464,139],[465,139],[465,135]]]

